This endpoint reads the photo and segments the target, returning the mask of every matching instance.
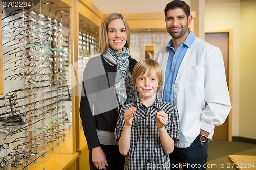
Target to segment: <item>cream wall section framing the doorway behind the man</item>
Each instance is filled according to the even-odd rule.
[[[240,3],[205,4],[205,30],[233,29],[232,136],[239,136]]]

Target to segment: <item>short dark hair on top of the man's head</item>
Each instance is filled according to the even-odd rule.
[[[173,10],[176,8],[183,9],[183,11],[185,12],[187,17],[190,15],[190,7],[185,1],[173,0],[173,1],[169,2],[164,9],[165,17],[167,16],[167,11],[169,11],[170,9]]]

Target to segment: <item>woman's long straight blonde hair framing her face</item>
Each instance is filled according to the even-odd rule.
[[[127,34],[127,41],[126,44],[124,45],[125,47],[129,48],[130,45],[130,30],[129,30],[129,26],[127,23],[127,20],[125,19],[125,17],[122,14],[119,13],[112,13],[109,16],[106,17],[106,19],[104,20],[102,27],[101,27],[101,39],[99,42],[99,49],[98,49],[98,53],[100,55],[104,54],[108,48],[109,48],[109,40],[108,40],[108,26],[109,23],[115,19],[122,19],[125,29],[126,29],[126,34]]]

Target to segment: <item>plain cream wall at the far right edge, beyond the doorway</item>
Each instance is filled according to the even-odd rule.
[[[239,136],[256,139],[256,1],[241,2]]]

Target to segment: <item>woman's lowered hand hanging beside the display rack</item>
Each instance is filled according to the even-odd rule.
[[[97,169],[106,169],[108,162],[106,162],[106,155],[101,147],[95,147],[92,149],[92,161]]]

